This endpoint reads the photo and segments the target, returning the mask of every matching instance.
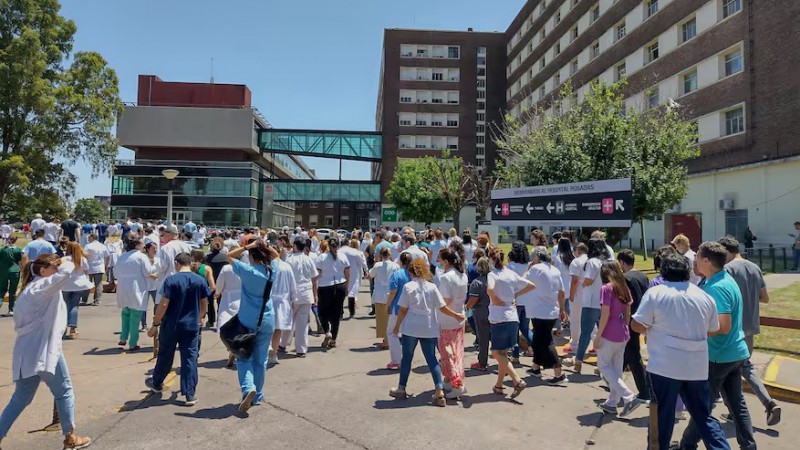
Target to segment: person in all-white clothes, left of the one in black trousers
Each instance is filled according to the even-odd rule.
[[[292,267],[295,283],[297,284],[297,297],[292,304],[292,329],[281,332],[281,342],[278,347],[279,352],[285,352],[286,348],[295,339],[295,353],[299,358],[305,358],[308,352],[308,322],[311,315],[311,307],[317,304],[317,271],[314,260],[304,253],[306,249],[305,239],[295,239],[292,244],[294,250],[286,261]]]

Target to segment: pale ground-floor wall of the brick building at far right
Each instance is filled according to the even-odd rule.
[[[747,210],[748,225],[758,237],[756,247],[791,245],[794,222],[800,220],[800,158],[790,158],[738,169],[720,170],[690,176],[689,192],[681,202],[683,214],[702,214],[703,240],[714,240],[729,231],[725,226],[725,211],[719,200],[734,200],[734,209]],[[667,217],[665,217],[667,219]],[[645,234],[656,245],[669,241],[668,220],[646,222]],[[634,245],[641,236],[635,224],[629,233]],[[627,242],[624,243],[627,245]]]

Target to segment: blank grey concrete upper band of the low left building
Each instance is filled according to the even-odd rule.
[[[123,147],[224,148],[255,151],[253,111],[126,106],[117,123]]]

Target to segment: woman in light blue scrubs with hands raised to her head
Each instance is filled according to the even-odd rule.
[[[248,251],[250,264],[239,260],[239,256]],[[267,375],[267,358],[272,334],[275,331],[275,312],[272,300],[267,298],[264,305],[264,290],[267,280],[274,280],[279,270],[277,263],[280,253],[261,239],[252,238],[244,247],[231,250],[226,255],[233,273],[242,280],[242,298],[239,306],[239,321],[250,330],[256,330],[256,346],[250,358],[237,358],[236,369],[239,372],[239,386],[242,389],[242,401],[239,412],[246,413],[251,406],[258,405],[264,399],[264,379]],[[259,327],[259,313],[261,326]]]

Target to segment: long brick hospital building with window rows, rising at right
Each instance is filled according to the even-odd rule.
[[[506,32],[507,107],[546,109],[567,81],[580,99],[590,82],[622,78],[628,108],[675,101],[701,155],[688,196],[648,235],[699,243],[750,226],[785,245],[800,218],[788,195],[800,190],[798,14],[793,0],[529,0]]]

